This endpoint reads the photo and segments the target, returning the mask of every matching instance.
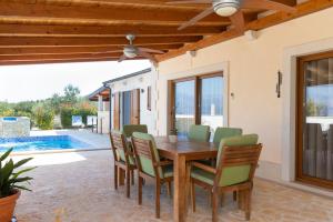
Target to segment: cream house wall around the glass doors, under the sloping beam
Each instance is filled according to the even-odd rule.
[[[261,170],[264,171],[262,175],[281,179],[281,165],[287,161],[287,157],[282,155],[283,149],[295,149],[292,143],[285,141],[290,139],[286,133],[291,134],[294,131],[292,125],[295,120],[291,114],[295,69],[291,68],[292,58],[285,53],[291,48],[302,48],[307,43],[316,46],[327,41],[329,38],[333,38],[333,29],[330,28],[332,26],[333,8],[330,8],[262,30],[259,39],[253,41],[240,37],[199,50],[194,58],[184,54],[161,62],[157,83],[158,134],[163,135],[168,132],[168,80],[223,70],[229,77],[229,93],[225,94],[229,100],[229,125],[241,127],[244,133],[260,135],[260,142],[264,145],[261,155]],[[326,44],[326,48],[320,51],[332,48],[333,44]],[[315,53],[317,50],[312,47],[306,53]],[[283,72],[280,99],[275,93],[279,70]],[[231,98],[230,93],[234,97]],[[290,120],[286,121],[285,118]]]

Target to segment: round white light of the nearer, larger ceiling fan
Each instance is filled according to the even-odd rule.
[[[238,0],[219,0],[213,2],[213,8],[220,17],[230,17],[240,9]]]

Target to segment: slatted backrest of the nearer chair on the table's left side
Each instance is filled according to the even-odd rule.
[[[148,133],[134,132],[131,139],[138,170],[153,178],[162,178],[162,169],[157,167],[160,162],[160,155],[154,138]]]

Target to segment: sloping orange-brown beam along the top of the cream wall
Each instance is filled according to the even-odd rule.
[[[297,4],[295,7],[297,10],[295,13],[276,12],[276,13],[270,14],[268,17],[264,17],[264,18],[261,18],[261,19],[258,19],[255,21],[248,23],[246,29],[248,30],[265,29],[265,28],[269,28],[269,27],[292,20],[292,19],[296,19],[296,18],[300,18],[300,17],[303,17],[303,16],[306,16],[306,14],[310,14],[310,13],[313,13],[313,12],[316,12],[316,11],[320,11],[323,9],[327,9],[330,7],[333,7],[332,0],[309,0],[306,2]],[[161,62],[161,61],[184,54],[188,51],[199,50],[199,49],[203,49],[206,47],[211,47],[213,44],[224,42],[224,41],[228,41],[230,39],[233,39],[233,38],[236,38],[240,36],[243,36],[243,33],[240,33],[235,30],[224,31],[220,34],[213,34],[211,37],[202,39],[195,43],[186,44],[178,50],[172,50],[164,54],[157,56],[157,59],[159,62]]]

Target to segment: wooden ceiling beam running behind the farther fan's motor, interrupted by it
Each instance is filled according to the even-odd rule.
[[[183,44],[157,44],[157,46],[145,46],[150,49],[157,50],[174,50],[181,48]],[[140,46],[139,46],[140,47]],[[44,47],[44,48],[34,48],[34,47],[23,47],[23,48],[1,48],[0,54],[52,54],[52,53],[84,53],[84,52],[107,52],[107,51],[122,51],[121,47]]]

